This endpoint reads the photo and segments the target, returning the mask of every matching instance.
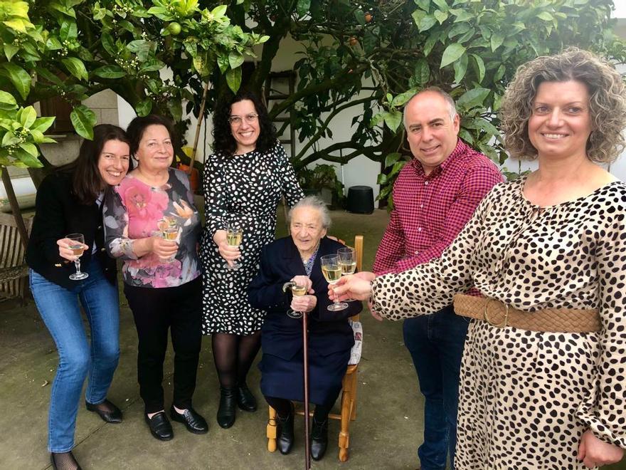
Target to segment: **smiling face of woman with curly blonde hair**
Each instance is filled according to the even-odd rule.
[[[529,139],[539,158],[586,156],[591,130],[589,92],[583,83],[539,85],[528,122]]]

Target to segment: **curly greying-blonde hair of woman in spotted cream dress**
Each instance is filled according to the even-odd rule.
[[[528,122],[539,85],[543,82],[583,83],[589,92],[592,132],[587,157],[592,162],[610,163],[626,147],[626,86],[609,63],[579,48],[568,48],[556,56],[538,57],[520,66],[502,100],[504,145],[511,157],[534,160]]]

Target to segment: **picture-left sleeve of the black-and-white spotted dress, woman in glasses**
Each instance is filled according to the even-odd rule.
[[[218,230],[226,227],[228,219],[228,195],[220,178],[221,168],[218,165],[219,154],[208,157],[208,167],[204,170],[202,189],[206,216],[205,234],[208,239]]]

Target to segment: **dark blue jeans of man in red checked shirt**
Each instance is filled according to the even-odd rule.
[[[404,344],[425,397],[424,443],[418,449],[422,470],[444,470],[448,452],[455,468],[459,375],[468,325],[469,319],[456,315],[452,305],[404,320]]]

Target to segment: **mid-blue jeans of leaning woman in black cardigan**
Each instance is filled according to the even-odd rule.
[[[78,402],[85,377],[89,376],[85,399],[92,404],[105,401],[120,357],[120,306],[117,287],[102,273],[95,258],[89,277],[75,281],[68,290],[29,270],[31,292],[59,355],[48,414],[48,451],[67,452],[74,447]],[[80,315],[80,303],[89,320],[91,342]]]

